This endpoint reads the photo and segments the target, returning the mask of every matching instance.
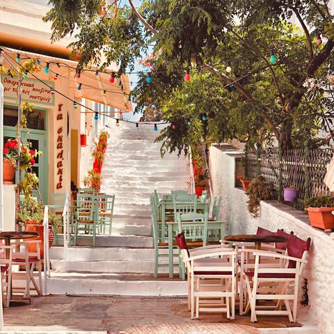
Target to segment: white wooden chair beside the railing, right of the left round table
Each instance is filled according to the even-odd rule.
[[[16,241],[16,249],[13,252],[13,261],[15,265],[19,265],[24,268],[24,272],[13,272],[13,278],[25,278],[25,287],[13,286],[13,291],[24,290],[24,298],[30,299],[31,283],[33,283],[33,289],[38,295],[42,295],[42,262],[40,259],[40,240],[31,241]],[[28,249],[29,245],[34,245],[34,250]],[[38,270],[38,284],[33,276],[33,271]]]

